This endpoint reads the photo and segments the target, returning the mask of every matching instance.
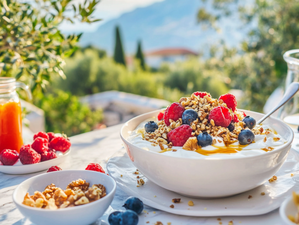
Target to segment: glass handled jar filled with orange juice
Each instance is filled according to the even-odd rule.
[[[0,153],[3,149],[20,151],[22,138],[22,110],[16,88],[23,88],[29,99],[30,88],[12,77],[0,77]]]

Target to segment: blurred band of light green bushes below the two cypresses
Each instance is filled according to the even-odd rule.
[[[139,62],[131,71],[111,58],[100,58],[97,50],[86,49],[66,59],[65,74],[68,79],[59,79],[54,86],[75,95],[118,90],[174,102],[194,91],[208,91],[214,97],[228,91],[224,75],[196,58],[165,64],[152,73],[140,68]]]

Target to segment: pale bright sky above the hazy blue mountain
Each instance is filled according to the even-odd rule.
[[[60,25],[63,32],[93,32],[105,22],[119,17],[123,13],[130,12],[138,7],[146,7],[155,2],[164,0],[101,0],[94,12],[96,18],[103,19],[100,22],[89,24],[64,22]],[[74,0],[74,4],[84,2],[84,0]]]

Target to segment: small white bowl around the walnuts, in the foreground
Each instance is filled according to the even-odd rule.
[[[57,187],[65,187],[73,180],[83,179],[93,184],[102,184],[107,195],[85,205],[51,210],[40,209],[22,204],[27,192],[33,195],[34,191],[43,191],[45,187],[54,183]],[[111,204],[115,195],[116,183],[108,175],[90,170],[60,170],[31,177],[17,186],[13,192],[13,201],[20,212],[31,222],[37,225],[88,225],[100,218]]]

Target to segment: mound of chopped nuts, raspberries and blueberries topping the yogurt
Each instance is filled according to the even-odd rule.
[[[240,145],[248,145],[255,134],[263,133],[263,128],[255,128],[253,117],[237,110],[237,100],[232,94],[214,99],[207,92],[194,92],[160,112],[158,120],[145,124],[142,137],[161,150],[167,145],[194,151],[215,144],[215,137],[222,138],[224,143],[239,141]]]

